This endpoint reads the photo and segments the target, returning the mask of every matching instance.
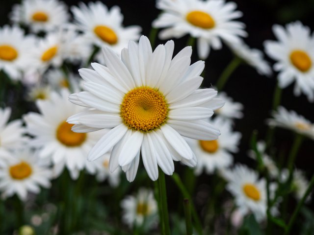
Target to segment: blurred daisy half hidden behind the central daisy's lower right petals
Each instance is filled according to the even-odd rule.
[[[221,131],[217,140],[188,141],[198,160],[195,168],[197,175],[201,174],[203,169],[207,174],[212,174],[215,169],[227,168],[233,163],[233,156],[230,152],[238,151],[237,145],[241,134],[232,131],[232,121],[217,117],[211,121],[211,124]]]

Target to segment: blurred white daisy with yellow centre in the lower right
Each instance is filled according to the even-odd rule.
[[[252,212],[256,220],[263,220],[267,208],[266,181],[259,180],[255,171],[241,164],[228,170],[225,175],[227,189],[234,195],[239,212],[242,215]]]

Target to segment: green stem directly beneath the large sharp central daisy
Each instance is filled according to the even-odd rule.
[[[170,235],[170,225],[169,225],[169,215],[168,215],[168,205],[167,205],[167,191],[166,191],[166,181],[165,174],[159,168],[159,203],[162,211],[161,223],[163,224],[163,235]]]

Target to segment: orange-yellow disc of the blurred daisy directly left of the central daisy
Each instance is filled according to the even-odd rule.
[[[86,139],[86,133],[76,133],[71,130],[73,124],[66,121],[61,122],[56,131],[56,138],[62,144],[68,147],[76,147],[81,145]]]

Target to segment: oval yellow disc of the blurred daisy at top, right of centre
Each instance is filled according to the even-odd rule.
[[[212,17],[203,11],[191,11],[186,15],[186,20],[194,26],[209,29],[215,26],[215,21]]]

